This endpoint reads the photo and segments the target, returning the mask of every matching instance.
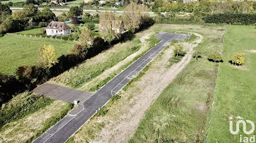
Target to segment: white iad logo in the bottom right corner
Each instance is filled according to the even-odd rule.
[[[252,126],[250,131],[246,131],[246,123],[249,123]],[[236,122],[236,131],[233,131],[233,117],[230,117],[230,133],[238,134],[240,124],[243,125],[244,134],[252,134],[255,131],[255,123],[253,123],[252,120],[246,120],[246,122],[244,120],[238,120]],[[242,137],[242,135],[240,135],[240,142],[255,142],[255,135],[250,138]]]

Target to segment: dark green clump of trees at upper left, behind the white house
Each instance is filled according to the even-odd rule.
[[[0,4],[0,34],[44,27],[56,19],[56,15],[49,8],[39,11],[34,4],[25,5],[23,8],[12,12],[9,6]]]

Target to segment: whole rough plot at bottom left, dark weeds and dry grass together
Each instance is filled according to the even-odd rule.
[[[73,104],[20,93],[0,110],[1,142],[31,142],[61,118]]]

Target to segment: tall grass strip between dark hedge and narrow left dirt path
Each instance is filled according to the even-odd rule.
[[[110,50],[106,50],[94,58],[86,60],[80,66],[64,72],[53,80],[72,88],[80,88],[86,82],[102,74],[106,69],[109,69],[119,61],[123,61],[127,56],[138,51],[140,47],[140,39],[135,37],[132,41],[115,45]]]

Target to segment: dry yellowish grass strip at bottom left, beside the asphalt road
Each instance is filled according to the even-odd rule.
[[[47,126],[46,124],[49,124],[54,117],[58,117],[68,106],[68,103],[53,101],[52,104],[39,109],[39,111],[31,115],[7,123],[0,131],[1,142],[18,143],[31,141],[35,136],[38,136],[38,132]]]

